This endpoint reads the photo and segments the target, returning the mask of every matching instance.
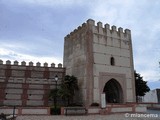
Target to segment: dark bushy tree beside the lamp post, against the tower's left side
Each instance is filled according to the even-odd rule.
[[[71,102],[73,102],[73,97],[78,89],[77,78],[73,75],[66,75],[62,81],[62,85],[58,91],[58,94],[63,100],[67,100],[68,105],[70,105]]]

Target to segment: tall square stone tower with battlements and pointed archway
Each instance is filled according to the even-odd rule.
[[[77,100],[85,106],[135,102],[131,31],[92,19],[65,37],[66,74],[78,78]]]

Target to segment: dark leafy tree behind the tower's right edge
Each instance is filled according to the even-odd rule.
[[[143,77],[139,73],[134,72],[135,76],[135,87],[136,87],[136,99],[138,96],[144,96],[146,92],[150,91],[150,88],[147,85],[147,81],[143,80]]]

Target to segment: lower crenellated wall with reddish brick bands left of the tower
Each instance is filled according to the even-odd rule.
[[[48,93],[55,88],[55,75],[58,76],[58,85],[61,83],[65,69],[62,64],[47,63],[44,66],[38,62],[33,66],[32,62],[26,65],[18,61],[11,64],[10,61],[0,60],[0,104],[18,106],[48,106]]]

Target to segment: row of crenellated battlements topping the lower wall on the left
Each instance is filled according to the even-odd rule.
[[[31,61],[31,62],[29,62],[28,65],[27,65],[25,61],[22,61],[21,64],[19,65],[19,62],[18,62],[17,60],[15,60],[15,61],[13,62],[13,64],[11,64],[11,61],[10,61],[10,60],[7,60],[5,63],[4,63],[2,60],[0,60],[0,65],[30,66],[30,67],[32,67],[32,66],[34,66],[34,63]],[[47,63],[47,62],[43,63],[43,65],[41,65],[40,62],[37,62],[34,67],[49,67],[49,66],[48,66],[48,63]],[[56,67],[56,66],[55,66],[55,63],[51,63],[51,66],[50,66],[50,67],[55,68],[55,67]],[[58,67],[58,68],[62,68],[62,64],[59,63],[57,67]]]

